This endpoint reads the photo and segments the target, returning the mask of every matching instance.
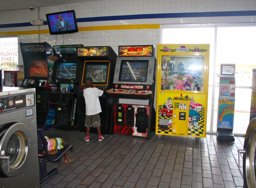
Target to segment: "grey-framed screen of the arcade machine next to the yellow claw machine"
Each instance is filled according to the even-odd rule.
[[[155,57],[118,57],[113,84],[152,85]]]

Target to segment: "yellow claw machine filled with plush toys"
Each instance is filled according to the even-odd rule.
[[[209,44],[158,44],[155,134],[206,137]]]

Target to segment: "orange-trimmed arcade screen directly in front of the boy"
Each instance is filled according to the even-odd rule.
[[[81,84],[85,86],[85,78],[92,78],[94,86],[108,86],[110,61],[84,61]]]

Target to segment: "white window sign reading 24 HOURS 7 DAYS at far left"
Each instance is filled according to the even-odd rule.
[[[16,70],[18,65],[18,38],[0,38],[0,69]]]

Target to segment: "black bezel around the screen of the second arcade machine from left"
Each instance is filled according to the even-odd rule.
[[[58,67],[61,63],[76,63],[76,78],[75,79],[59,79],[58,77]],[[80,71],[82,69],[82,63],[78,59],[58,59],[53,65],[53,82],[56,83],[78,83],[80,81]]]

